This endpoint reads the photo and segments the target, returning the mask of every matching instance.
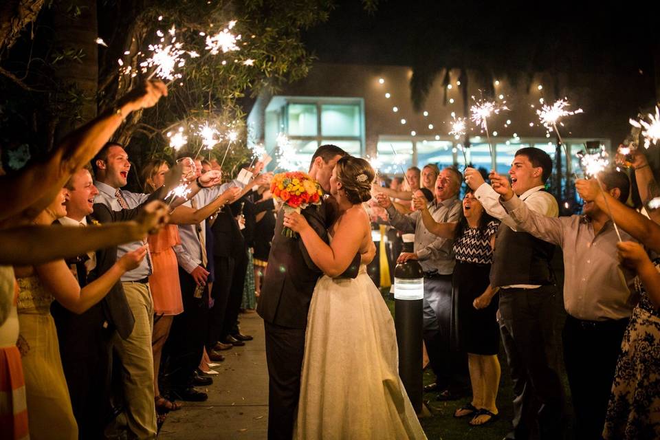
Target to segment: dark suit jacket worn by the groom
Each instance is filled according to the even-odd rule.
[[[308,206],[301,213],[321,239],[328,243],[328,228],[335,219],[333,206],[324,200],[320,206]],[[300,237],[290,239],[282,235],[283,223],[284,209],[281,209],[277,214],[275,235],[256,311],[271,324],[305,329],[311,294],[323,272],[309,258]],[[358,253],[341,277],[355,278],[359,268]]]

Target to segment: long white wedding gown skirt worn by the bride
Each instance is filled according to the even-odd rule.
[[[394,320],[364,265],[357,278],[316,283],[300,385],[295,439],[426,439],[399,379]]]

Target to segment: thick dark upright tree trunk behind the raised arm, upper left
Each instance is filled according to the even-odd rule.
[[[82,56],[58,63],[55,77],[63,93],[82,94],[82,106],[73,114],[60,115],[56,138],[61,138],[94,119],[98,92],[98,26],[96,0],[60,0],[54,4],[55,47],[82,51]]]

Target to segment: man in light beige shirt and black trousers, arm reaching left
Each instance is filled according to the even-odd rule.
[[[492,186],[519,231],[560,246],[564,256],[564,364],[571,386],[577,439],[601,436],[621,340],[637,296],[635,273],[616,257],[617,234],[607,211],[585,201],[582,215],[545,217],[523,203],[507,177],[492,173]],[[625,173],[601,175],[605,190],[624,203],[630,181]],[[621,233],[625,241],[633,239]]]

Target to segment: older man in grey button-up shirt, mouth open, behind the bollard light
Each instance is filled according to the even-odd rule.
[[[435,221],[455,222],[461,217],[458,199],[461,173],[456,168],[445,168],[435,184],[435,201],[429,208]],[[419,211],[403,215],[390,198],[379,193],[378,203],[386,208],[390,224],[401,232],[415,232],[414,252],[402,252],[398,263],[409,259],[419,260],[424,275],[424,342],[436,382],[426,391],[438,391],[439,399],[456,399],[458,384],[456,375],[464,362],[462,356],[450,350],[450,315],[452,305],[452,272],[454,254],[452,240],[431,234],[421,220]]]

